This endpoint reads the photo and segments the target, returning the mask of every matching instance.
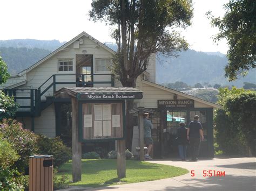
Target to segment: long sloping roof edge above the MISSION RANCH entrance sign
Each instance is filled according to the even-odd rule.
[[[170,93],[173,93],[173,94],[177,94],[177,95],[186,97],[186,98],[191,99],[191,100],[198,101],[200,103],[204,103],[204,104],[209,105],[213,108],[218,108],[218,109],[222,108],[221,105],[219,105],[219,104],[208,102],[208,101],[205,101],[201,98],[194,97],[194,96],[191,96],[191,95],[188,95],[188,94],[184,94],[184,93],[181,93],[180,91],[177,91],[177,90],[174,90],[174,89],[171,89],[171,88],[166,88],[166,87],[161,86],[161,85],[156,84],[156,83],[152,83],[152,82],[149,82],[149,81],[146,81],[146,80],[143,80],[143,83],[148,84],[148,85],[153,86],[153,87],[156,87],[156,88],[159,88],[159,89],[163,89],[165,91],[169,91]]]

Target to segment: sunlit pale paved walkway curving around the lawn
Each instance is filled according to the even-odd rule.
[[[186,168],[188,174],[169,179],[148,182],[130,183],[100,188],[73,187],[65,190],[256,190],[256,158],[205,159],[197,162],[152,160],[157,164],[165,164]],[[221,171],[225,176],[203,176],[203,171]],[[193,171],[194,176],[191,176]],[[207,173],[209,174],[209,173]],[[219,173],[218,173],[219,175]]]

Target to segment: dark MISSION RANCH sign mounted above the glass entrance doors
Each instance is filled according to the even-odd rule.
[[[160,109],[194,108],[194,100],[158,100],[157,107]]]

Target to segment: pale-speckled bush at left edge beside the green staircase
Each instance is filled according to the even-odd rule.
[[[13,118],[18,109],[19,104],[14,101],[14,97],[6,96],[0,90],[0,122],[4,118]]]

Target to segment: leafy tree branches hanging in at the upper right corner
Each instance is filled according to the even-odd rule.
[[[256,61],[256,2],[254,0],[230,0],[224,5],[226,13],[223,18],[214,18],[206,13],[212,26],[218,27],[220,33],[214,41],[227,39],[228,64],[225,76],[234,81],[239,75],[255,68]]]

